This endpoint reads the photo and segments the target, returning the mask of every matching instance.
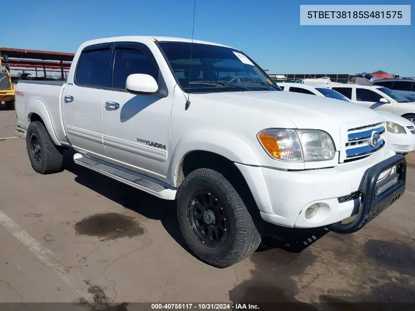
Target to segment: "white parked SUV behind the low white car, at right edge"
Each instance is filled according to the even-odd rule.
[[[323,85],[322,85],[323,86]],[[415,123],[415,102],[384,86],[376,85],[324,85],[343,94],[352,102],[373,110],[386,111]]]

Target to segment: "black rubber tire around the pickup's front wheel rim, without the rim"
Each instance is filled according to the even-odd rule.
[[[189,210],[192,196],[200,190],[212,192],[226,213],[227,235],[221,245],[206,247],[196,237]],[[177,192],[177,216],[183,237],[194,255],[217,268],[229,267],[256,251],[259,234],[245,203],[222,174],[210,169],[197,169],[183,180]]]

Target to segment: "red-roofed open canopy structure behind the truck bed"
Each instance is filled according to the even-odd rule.
[[[26,50],[14,48],[0,48],[1,55],[9,57],[9,69],[24,71],[38,71],[43,70],[43,75],[46,77],[47,71],[61,73],[61,78],[64,78],[64,73],[69,71],[71,61],[74,53],[40,51],[40,50]]]

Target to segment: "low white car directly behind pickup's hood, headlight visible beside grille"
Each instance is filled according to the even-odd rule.
[[[297,83],[278,83],[284,91],[325,96],[354,104],[343,94],[326,85],[299,85]],[[354,104],[355,105],[355,104]],[[386,122],[387,142],[393,146],[396,153],[406,154],[415,150],[414,123],[393,113],[378,111]]]

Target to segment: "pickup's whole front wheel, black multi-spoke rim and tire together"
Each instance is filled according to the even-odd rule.
[[[186,176],[177,193],[177,216],[192,252],[214,267],[245,259],[261,242],[241,197],[215,170],[198,169]]]

